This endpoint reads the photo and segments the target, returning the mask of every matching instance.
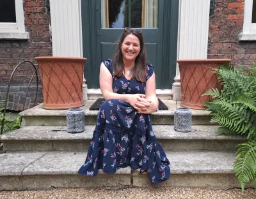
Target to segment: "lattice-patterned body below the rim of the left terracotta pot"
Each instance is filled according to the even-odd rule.
[[[78,98],[70,98],[74,102],[83,101],[83,66],[81,62],[41,62],[38,61],[46,103],[67,104],[72,94]],[[53,90],[53,92],[52,92]],[[51,93],[57,92],[56,96]],[[60,93],[61,92],[61,93]]]

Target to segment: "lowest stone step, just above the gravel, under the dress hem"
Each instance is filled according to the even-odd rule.
[[[0,191],[50,188],[188,187],[231,189],[239,183],[233,172],[234,152],[167,152],[172,175],[151,184],[147,173],[120,168],[97,177],[77,174],[86,152],[7,152],[0,154]]]

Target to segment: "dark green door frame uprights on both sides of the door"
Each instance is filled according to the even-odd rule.
[[[177,61],[177,38],[179,24],[179,0],[159,0],[164,1],[164,21],[163,21],[163,67],[161,78],[161,88],[171,89],[173,79],[176,75]],[[99,76],[97,66],[97,23],[96,15],[100,10],[97,0],[81,0],[82,36],[83,36],[83,56],[88,60],[84,68],[86,80],[93,80]],[[98,84],[88,85],[90,89],[99,89]]]

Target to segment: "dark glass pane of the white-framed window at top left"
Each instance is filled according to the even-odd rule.
[[[16,23],[15,0],[0,0],[0,23]]]

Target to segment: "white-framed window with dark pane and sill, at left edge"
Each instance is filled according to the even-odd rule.
[[[23,0],[0,1],[0,39],[28,39],[25,33]]]

